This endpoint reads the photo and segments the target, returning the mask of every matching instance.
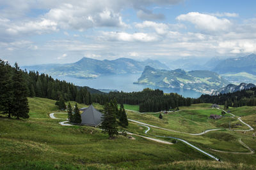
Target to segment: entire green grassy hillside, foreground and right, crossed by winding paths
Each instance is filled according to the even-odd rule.
[[[120,127],[152,138],[165,135],[186,139],[223,160],[216,162],[182,142],[164,145],[138,136],[134,136],[135,139],[125,136],[108,139],[106,134],[93,127],[63,127],[58,124],[61,120],[49,118],[49,113],[61,112],[54,105],[55,102],[38,97],[29,98],[28,120],[0,117],[0,169],[253,169],[255,166],[255,153],[239,155],[211,150],[248,152],[238,143],[239,138],[243,138],[246,145],[256,150],[252,132],[214,131],[202,136],[189,136],[156,128],[144,134],[146,128],[132,122],[129,122],[127,128]],[[72,102],[72,106],[74,104]],[[79,104],[79,108],[84,106]],[[93,103],[93,106],[102,109],[99,104]],[[220,111],[211,110],[207,106],[193,105],[191,110],[186,108],[164,115],[163,120],[157,117],[157,113],[127,111],[127,117],[182,132],[201,132],[204,128],[221,127],[222,123],[227,122],[225,119],[209,120],[209,114],[220,114]],[[250,108],[253,109],[255,107]],[[55,116],[63,120],[67,118],[65,114]],[[255,113],[252,113],[243,117],[243,120],[250,119],[248,123],[254,127],[256,122],[252,119],[255,120],[255,117]],[[243,129],[243,126],[239,128]]]

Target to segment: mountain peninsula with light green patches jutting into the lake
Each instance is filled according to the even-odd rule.
[[[167,71],[146,66],[141,77],[134,83],[211,94],[214,90],[225,87],[229,82],[212,71],[184,71],[182,69]]]

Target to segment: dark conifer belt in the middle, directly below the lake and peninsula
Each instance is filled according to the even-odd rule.
[[[109,94],[93,94],[92,101],[100,104],[116,99],[117,103],[138,104],[140,112],[156,112],[190,106],[191,98],[179,94],[164,94],[163,90],[144,89],[141,92],[109,92]]]

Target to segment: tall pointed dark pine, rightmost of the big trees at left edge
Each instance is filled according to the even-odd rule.
[[[26,93],[26,83],[17,63],[12,77],[13,81],[13,113],[12,115],[19,118],[29,118],[29,106]]]

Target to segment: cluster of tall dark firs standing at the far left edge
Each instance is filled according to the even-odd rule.
[[[27,96],[28,87],[18,64],[11,67],[0,60],[0,114],[9,118],[29,118]]]

